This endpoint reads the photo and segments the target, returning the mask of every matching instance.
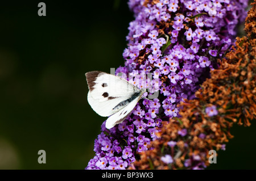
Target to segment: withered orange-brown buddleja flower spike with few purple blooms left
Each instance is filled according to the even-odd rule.
[[[236,47],[195,93],[197,99],[179,104],[181,117],[163,122],[150,144],[154,150],[141,153],[130,169],[204,169],[210,150],[225,150],[234,123],[249,127],[256,120],[256,0],[251,5],[247,35],[237,37]]]

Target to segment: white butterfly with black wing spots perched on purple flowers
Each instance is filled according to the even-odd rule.
[[[88,102],[98,115],[110,116],[106,120],[108,129],[122,123],[146,92],[121,77],[102,71],[89,71],[85,76],[89,87]]]

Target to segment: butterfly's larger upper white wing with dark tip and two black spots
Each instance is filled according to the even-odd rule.
[[[101,71],[90,71],[85,75],[89,87],[88,102],[100,116],[110,116],[122,110],[139,92],[137,87],[115,75]]]

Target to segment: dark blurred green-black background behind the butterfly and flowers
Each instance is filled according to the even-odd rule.
[[[84,169],[105,120],[84,74],[123,66],[133,14],[122,0],[43,1],[38,16],[39,2],[0,6],[0,169]],[[209,169],[256,169],[255,129],[234,126]]]

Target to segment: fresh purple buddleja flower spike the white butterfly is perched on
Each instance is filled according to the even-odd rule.
[[[135,20],[126,37],[125,66],[115,74],[129,74],[133,77],[129,81],[135,86],[154,88],[155,81],[146,81],[144,85],[139,81],[141,75],[152,73],[153,78],[160,79],[159,96],[152,101],[140,100],[131,115],[110,130],[104,122],[94,144],[96,155],[86,169],[126,169],[137,153],[152,149],[148,144],[156,138],[156,128],[162,121],[179,116],[177,103],[195,97],[210,69],[218,67],[217,58],[234,43],[236,26],[245,18],[247,6],[244,0],[128,3]],[[214,107],[209,109],[216,114]],[[186,136],[187,132],[184,128],[179,134]]]

